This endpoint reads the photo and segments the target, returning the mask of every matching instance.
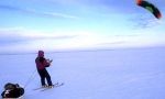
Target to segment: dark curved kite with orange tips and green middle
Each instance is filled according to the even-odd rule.
[[[136,0],[136,4],[152,12],[155,18],[157,19],[162,18],[160,10],[154,4],[144,0]]]

